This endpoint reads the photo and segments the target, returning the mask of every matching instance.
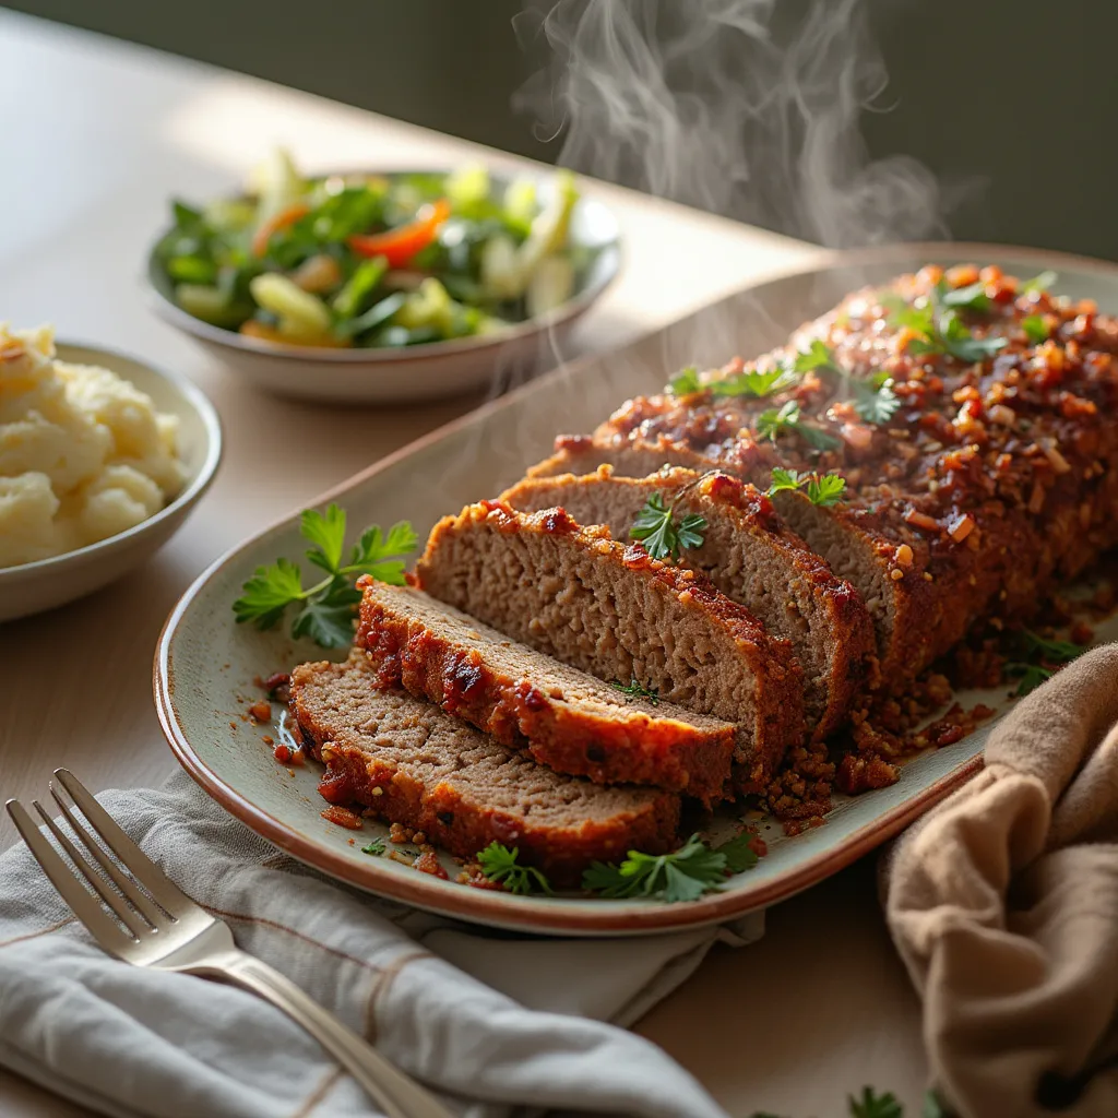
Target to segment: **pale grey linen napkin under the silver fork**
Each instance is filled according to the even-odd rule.
[[[733,929],[625,940],[517,936],[339,887],[212,803],[186,774],[98,797],[238,944],[271,963],[452,1112],[520,1108],[724,1118],[624,1031]],[[379,1110],[252,994],[110,958],[22,844],[0,856],[0,1063],[119,1118],[364,1118]],[[538,1109],[537,1109],[538,1108]]]

